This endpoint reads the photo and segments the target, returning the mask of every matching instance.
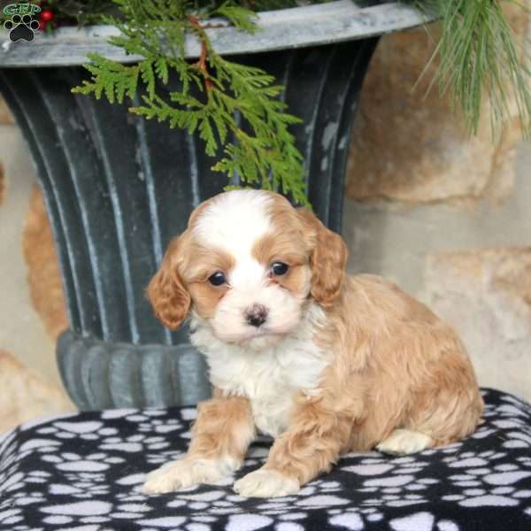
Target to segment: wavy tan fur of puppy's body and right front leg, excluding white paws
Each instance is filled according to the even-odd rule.
[[[352,308],[363,311],[352,312]],[[424,304],[372,275],[348,278],[319,341],[335,352],[319,394],[302,398],[266,466],[302,483],[346,451],[367,451],[396,428],[430,446],[473,433],[483,401],[465,347]]]

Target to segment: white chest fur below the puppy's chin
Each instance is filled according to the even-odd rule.
[[[212,384],[229,395],[247,396],[258,429],[275,437],[288,427],[296,395],[311,394],[329,362],[327,352],[312,339],[322,319],[314,304],[294,334],[265,350],[220,342],[198,321],[191,341],[207,359]]]

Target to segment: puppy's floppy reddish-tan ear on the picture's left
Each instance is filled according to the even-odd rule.
[[[177,269],[182,238],[174,238],[165,252],[158,272],[147,289],[148,298],[155,315],[165,327],[177,329],[189,312],[190,294]]]

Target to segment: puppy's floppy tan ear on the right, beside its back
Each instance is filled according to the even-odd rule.
[[[312,212],[299,208],[306,242],[312,250],[312,296],[322,306],[331,306],[339,295],[349,252],[342,237],[325,227]]]

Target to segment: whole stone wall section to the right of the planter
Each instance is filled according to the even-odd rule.
[[[523,44],[528,20],[507,9]],[[413,89],[432,50],[423,29],[376,50],[351,145],[349,269],[419,296],[458,329],[481,385],[531,400],[531,145],[514,109],[492,141],[488,103],[468,138],[448,97],[427,93],[436,61]]]

